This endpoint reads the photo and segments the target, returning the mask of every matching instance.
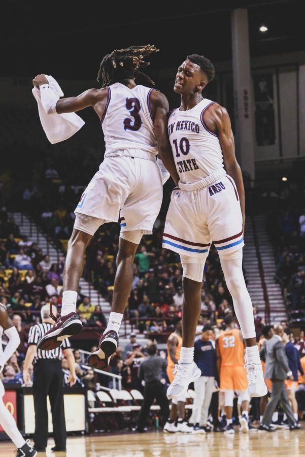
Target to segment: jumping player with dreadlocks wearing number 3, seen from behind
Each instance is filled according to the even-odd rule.
[[[49,107],[46,111],[61,114],[91,106],[105,135],[105,159],[75,209],[63,273],[61,315],[38,343],[40,349],[53,349],[65,337],[81,332],[76,300],[85,249],[101,224],[118,221],[120,215],[112,309],[98,348],[88,357],[94,368],[107,367],[117,348],[132,285],[134,254],[142,236],[152,233],[162,203],[162,182],[169,177],[167,170],[176,183],[179,179],[167,136],[167,99],[161,92],[138,84],[153,84],[140,69],[149,64],[145,57],[156,51],[151,45],[131,46],[106,55],[97,76],[103,88],[86,90],[77,97],[58,99],[45,75],[33,80],[40,88],[42,103]],[[160,167],[157,154],[164,164],[161,161]]]

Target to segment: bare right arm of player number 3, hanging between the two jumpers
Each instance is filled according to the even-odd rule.
[[[154,113],[154,128],[158,143],[159,158],[163,165],[171,174],[176,186],[178,185],[179,175],[176,169],[173,152],[167,134],[168,101],[161,92],[153,90],[150,96],[151,105]]]

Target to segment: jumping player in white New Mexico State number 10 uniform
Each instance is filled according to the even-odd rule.
[[[168,134],[179,172],[179,188],[172,193],[163,247],[178,252],[183,266],[183,345],[178,371],[167,396],[181,395],[200,376],[193,362],[200,291],[206,258],[213,242],[246,342],[248,390],[266,394],[256,345],[251,299],[245,284],[242,257],[245,195],[227,111],[205,99],[202,90],[214,78],[214,66],[193,54],[181,64],[174,90],[180,108],[168,120]]]

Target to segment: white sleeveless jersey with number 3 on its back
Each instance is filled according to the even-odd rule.
[[[156,155],[157,142],[150,108],[150,94],[154,89],[141,85],[129,89],[121,83],[111,84],[107,89],[108,102],[101,119],[105,157],[120,154],[124,149],[138,149]]]

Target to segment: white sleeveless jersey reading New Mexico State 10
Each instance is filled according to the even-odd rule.
[[[205,124],[205,111],[215,102],[204,99],[187,111],[176,109],[168,119],[168,135],[184,184],[200,181],[223,169],[223,156],[217,135]]]

